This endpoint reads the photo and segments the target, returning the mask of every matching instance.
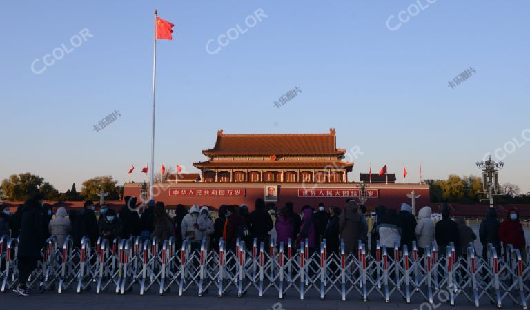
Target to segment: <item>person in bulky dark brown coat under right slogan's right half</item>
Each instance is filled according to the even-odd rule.
[[[358,212],[357,203],[350,200],[346,203],[346,209],[339,217],[339,234],[344,240],[344,251],[357,253],[359,237],[362,231],[361,215]]]

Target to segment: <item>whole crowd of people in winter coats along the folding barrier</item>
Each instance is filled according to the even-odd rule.
[[[118,213],[107,205],[100,205],[98,218],[96,209],[95,203],[88,200],[81,211],[70,210],[67,213],[65,208],[59,207],[54,216],[52,207],[44,203],[40,194],[26,200],[12,215],[9,209],[0,209],[0,236],[19,238],[20,280],[14,291],[21,296],[29,295],[26,280],[42,259],[44,242],[52,235],[57,237],[59,246],[71,235],[75,247],[81,245],[84,236],[92,245],[99,237],[109,242],[117,237],[140,236],[143,240],[156,238],[158,242],[173,237],[176,247],[188,239],[193,250],[199,249],[205,239],[206,247],[214,251],[219,251],[219,240],[222,238],[226,249],[235,251],[238,238],[245,242],[246,249],[251,249],[255,238],[259,247],[261,242],[268,245],[273,234],[277,246],[282,242],[286,246],[289,240],[293,247],[307,242],[311,253],[320,251],[321,242],[326,240],[328,256],[339,254],[341,240],[346,253],[355,253],[359,240],[362,240],[373,256],[377,242],[389,249],[393,249],[396,243],[401,248],[406,245],[409,251],[416,242],[420,256],[434,240],[441,255],[453,242],[457,254],[465,256],[469,243],[477,239],[466,220],[463,217],[453,220],[449,209],[443,209],[442,220],[435,223],[431,219],[431,207],[422,207],[416,218],[412,207],[406,203],[401,205],[399,212],[383,205],[376,207],[370,232],[366,207],[353,199],[346,200],[343,207],[333,205],[328,209],[324,203],[320,203],[317,209],[304,205],[299,214],[291,202],[279,208],[274,203],[266,204],[260,198],[255,200],[252,212],[248,205],[221,205],[215,221],[208,206],[193,205],[188,211],[184,205],[177,205],[175,216],[171,217],[164,203],[155,200],[149,200],[139,214],[137,198],[133,196],[125,197],[124,206]],[[482,243],[483,258],[487,258],[489,243],[493,244],[498,255],[501,254],[501,244],[511,244],[521,252],[526,244],[516,209],[510,209],[507,220],[501,223],[495,209],[489,208],[480,223],[478,237]],[[388,251],[388,254],[393,257],[394,252]]]

